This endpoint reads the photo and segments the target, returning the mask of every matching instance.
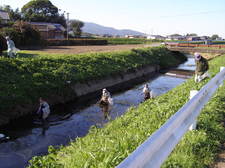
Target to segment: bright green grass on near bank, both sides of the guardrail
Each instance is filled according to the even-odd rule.
[[[211,60],[211,75],[224,65],[225,55]],[[87,136],[77,138],[69,146],[50,147],[47,156],[33,157],[30,168],[115,167],[189,100],[190,90],[201,89],[209,80],[196,84],[193,78],[189,79],[162,96],[130,108],[104,128],[93,127]],[[225,138],[224,100],[225,85],[203,109],[197,130],[185,135],[163,167],[203,168],[213,162]]]

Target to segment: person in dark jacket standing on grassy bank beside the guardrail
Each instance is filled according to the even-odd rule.
[[[203,79],[209,77],[208,69],[209,64],[208,61],[202,57],[199,53],[195,53],[195,82],[201,82]]]

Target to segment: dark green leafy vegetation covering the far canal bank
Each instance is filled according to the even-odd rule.
[[[163,47],[80,55],[21,52],[13,59],[0,57],[0,125],[31,113],[39,97],[50,105],[57,98],[74,99],[72,86],[77,83],[113,78],[144,66],[168,68],[185,60],[183,54]]]

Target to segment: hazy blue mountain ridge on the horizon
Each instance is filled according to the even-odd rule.
[[[82,31],[85,33],[91,33],[91,34],[98,34],[98,35],[104,35],[104,34],[109,34],[109,35],[119,35],[119,36],[125,36],[125,35],[145,35],[142,32],[134,31],[134,30],[129,30],[129,29],[115,29],[112,27],[105,27],[99,24],[95,23],[90,23],[90,22],[85,22],[84,27],[82,28]]]

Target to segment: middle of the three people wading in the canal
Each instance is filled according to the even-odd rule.
[[[113,106],[113,99],[111,98],[110,92],[105,88],[102,90],[102,97],[98,104],[102,109],[104,119],[110,120],[109,112]]]

